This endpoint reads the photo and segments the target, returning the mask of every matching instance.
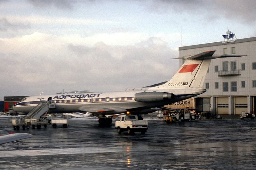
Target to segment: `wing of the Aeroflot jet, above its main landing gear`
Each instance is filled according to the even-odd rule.
[[[99,107],[99,106],[84,106],[79,108],[79,110],[84,112],[90,112],[93,114],[118,114],[118,113],[124,113],[127,110],[119,107]]]

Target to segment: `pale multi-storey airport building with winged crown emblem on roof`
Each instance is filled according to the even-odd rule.
[[[247,55],[211,61],[204,81],[207,91],[197,97],[208,101],[216,114],[241,114],[256,111],[256,37],[235,39],[228,30],[224,41],[179,47],[179,56],[216,50],[215,55]],[[180,60],[181,66],[184,61]]]

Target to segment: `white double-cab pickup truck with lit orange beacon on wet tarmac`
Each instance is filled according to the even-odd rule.
[[[116,118],[115,128],[119,134],[127,131],[129,135],[134,132],[144,135],[148,129],[148,121],[139,120],[137,115],[122,115]]]

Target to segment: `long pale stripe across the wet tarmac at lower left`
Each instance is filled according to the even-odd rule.
[[[87,154],[87,153],[106,153],[124,152],[121,148],[103,147],[81,147],[81,148],[61,148],[61,149],[38,149],[38,150],[12,150],[0,151],[0,158],[16,156],[41,156],[41,155],[65,155],[65,154]]]

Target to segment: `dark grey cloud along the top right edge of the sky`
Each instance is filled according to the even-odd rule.
[[[170,13],[172,11],[179,13],[191,13],[191,15],[202,15],[208,21],[214,21],[217,18],[228,18],[230,20],[240,20],[243,23],[256,24],[256,1],[254,0],[153,0],[151,4],[147,3],[149,11],[158,13]]]

